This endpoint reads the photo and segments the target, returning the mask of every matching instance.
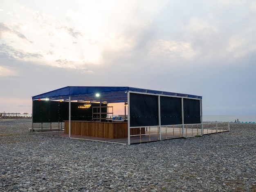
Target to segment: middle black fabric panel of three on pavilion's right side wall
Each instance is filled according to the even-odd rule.
[[[182,124],[181,98],[160,96],[161,125]]]

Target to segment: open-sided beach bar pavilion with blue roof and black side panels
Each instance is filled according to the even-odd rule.
[[[115,121],[111,103],[124,103],[127,119]],[[137,136],[141,143],[148,129],[156,128],[155,136],[162,140],[163,127],[179,126],[184,136],[184,126],[202,124],[202,96],[134,87],[68,86],[32,97],[31,131],[34,123],[52,122],[63,123],[70,138],[126,139],[130,145],[131,138]]]

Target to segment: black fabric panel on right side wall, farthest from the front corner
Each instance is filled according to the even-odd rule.
[[[183,99],[184,124],[201,123],[200,100]]]

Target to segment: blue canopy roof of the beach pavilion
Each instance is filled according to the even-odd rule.
[[[150,89],[139,89],[134,87],[77,87],[77,86],[67,86],[54,91],[43,93],[40,95],[33,96],[32,99],[43,99],[49,98],[50,100],[81,100],[81,101],[99,101],[101,98],[102,102],[106,103],[120,103],[127,102],[127,92],[141,92],[150,94],[160,94],[160,95],[170,95],[170,96],[181,96],[188,98],[198,98],[202,99],[202,96],[179,94],[172,92],[162,92]],[[97,97],[96,94],[100,96]]]

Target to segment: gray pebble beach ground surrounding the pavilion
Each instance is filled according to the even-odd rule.
[[[0,191],[256,192],[256,125],[137,145],[31,134],[0,122]]]

